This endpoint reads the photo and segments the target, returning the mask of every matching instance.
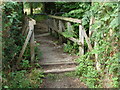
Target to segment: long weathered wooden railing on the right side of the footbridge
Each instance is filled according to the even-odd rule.
[[[76,39],[74,37],[65,37],[74,43],[77,43],[79,45],[79,53],[80,55],[84,55],[84,39],[87,42],[88,49],[92,50],[92,45],[90,44],[90,39],[86,34],[86,31],[84,27],[82,26],[82,21],[80,19],[74,19],[74,18],[66,18],[61,16],[53,16],[48,15],[48,28],[49,31],[52,33],[52,31],[55,31],[59,33],[60,35],[64,36],[62,32],[67,29],[68,31],[73,30],[73,27],[71,23],[77,23],[79,24],[79,39]],[[59,40],[62,41],[62,38],[59,36]]]

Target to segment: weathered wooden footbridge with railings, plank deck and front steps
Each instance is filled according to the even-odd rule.
[[[74,61],[74,58],[66,53],[61,53],[58,51],[53,52],[55,49],[48,46],[48,43],[53,42],[52,39],[50,39],[50,36],[47,37],[47,35],[50,34],[58,34],[59,37],[59,42],[63,43],[63,39],[66,38],[73,43],[77,43],[79,45],[79,55],[84,55],[84,41],[86,41],[87,46],[89,51],[92,50],[92,45],[90,44],[90,39],[82,26],[82,21],[80,19],[75,19],[75,18],[67,18],[67,17],[60,17],[60,16],[53,16],[53,15],[48,15],[48,19],[45,20],[46,24],[46,30],[48,33],[39,33],[38,35],[34,35],[35,30],[40,30],[34,28],[34,25],[38,28],[42,27],[42,23],[40,25],[36,24],[36,21],[32,18],[25,17],[25,25],[23,27],[22,35],[27,35],[27,38],[25,40],[25,43],[22,47],[22,50],[20,52],[17,64],[22,60],[22,56],[24,54],[24,51],[27,47],[27,44],[30,43],[30,53],[31,53],[31,64],[34,64],[34,59],[35,59],[35,39],[36,41],[40,42],[40,50],[42,50],[43,53],[43,60],[40,60],[39,63],[43,66],[44,68],[44,73],[59,73],[59,72],[66,72],[66,71],[74,71],[76,69],[76,63]],[[74,37],[64,37],[63,32],[67,29],[68,32],[74,30],[72,24],[76,23],[78,24],[78,29],[79,29],[79,38],[74,38]],[[34,30],[35,29],[35,30]],[[44,31],[44,29],[41,29]],[[47,37],[47,39],[45,39]],[[43,39],[45,40],[43,41]],[[56,46],[57,47],[57,46]],[[48,48],[45,50],[45,48]],[[58,53],[58,54],[57,54]],[[57,55],[61,55],[64,58],[57,58]],[[51,60],[49,60],[51,59]],[[51,62],[50,62],[51,61]],[[47,68],[46,68],[47,67]],[[54,68],[51,68],[54,67]],[[59,68],[62,67],[62,68]]]

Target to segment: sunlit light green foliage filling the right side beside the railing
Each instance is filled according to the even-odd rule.
[[[91,14],[87,14],[88,12]],[[111,84],[111,87],[118,88],[120,86],[118,83],[118,77],[120,76],[118,65],[118,3],[104,3],[103,5],[94,3],[90,11],[87,11],[84,16],[90,17],[91,15],[95,17],[95,23],[92,25],[91,30],[94,30],[94,33],[90,39],[92,43],[96,41],[97,46],[78,59],[80,64],[77,74],[82,76],[81,79],[90,88],[102,87],[103,75],[112,76],[108,76],[112,80],[109,84]],[[83,25],[86,25],[86,23]],[[98,54],[101,73],[95,68],[96,62],[91,60],[94,54]]]

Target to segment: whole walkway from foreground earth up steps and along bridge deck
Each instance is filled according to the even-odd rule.
[[[38,50],[42,52],[39,64],[42,66],[43,71],[47,73],[42,85],[43,88],[86,87],[78,78],[65,75],[65,72],[75,71],[74,59],[77,57],[63,52],[63,45],[60,45],[58,40],[48,33],[46,20],[37,22],[35,40],[40,44]]]

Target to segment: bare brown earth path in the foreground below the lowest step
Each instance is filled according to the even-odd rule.
[[[79,78],[67,76],[64,73],[50,75],[46,76],[42,88],[87,88]]]

